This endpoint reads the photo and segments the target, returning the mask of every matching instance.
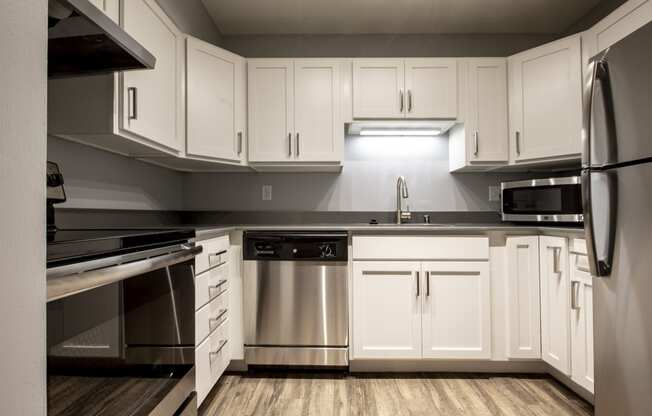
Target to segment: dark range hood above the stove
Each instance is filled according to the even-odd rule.
[[[153,69],[156,58],[88,0],[48,1],[48,77]]]

